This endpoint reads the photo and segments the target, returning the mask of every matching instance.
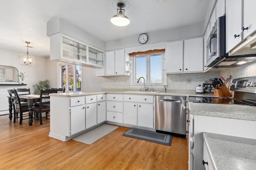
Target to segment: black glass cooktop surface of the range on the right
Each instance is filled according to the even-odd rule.
[[[232,98],[228,98],[228,97],[196,97],[196,96],[189,96],[189,102],[213,103],[213,104],[238,104],[238,105],[254,106],[252,104],[248,104],[246,102],[242,102],[242,101],[232,99]]]

